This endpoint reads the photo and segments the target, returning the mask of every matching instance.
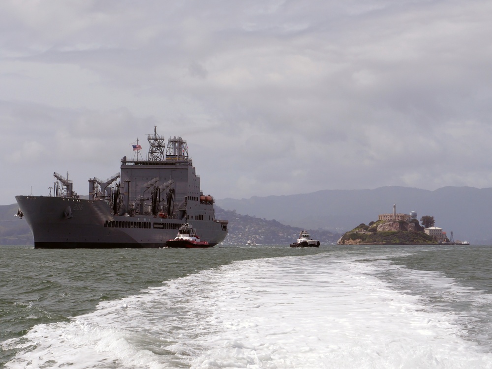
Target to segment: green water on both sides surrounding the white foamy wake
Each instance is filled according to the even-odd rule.
[[[39,327],[70,324],[74,317],[91,314],[106,302],[139,295],[143,290],[166,283],[176,283],[179,288],[181,282],[177,281],[188,281],[186,278],[194,278],[205,271],[221,273],[224,267],[243,265],[238,262],[247,265],[273,262],[277,268],[282,263],[296,266],[296,260],[303,266],[289,268],[300,276],[314,273],[306,269],[306,265],[310,265],[307,260],[321,268],[317,270],[327,271],[343,263],[370,265],[370,272],[366,274],[388,285],[392,291],[417,296],[424,302],[424,309],[463,316],[465,323],[460,328],[463,337],[482,352],[492,352],[489,333],[492,327],[491,246],[298,249],[285,245],[245,245],[205,250],[41,250],[29,246],[0,246],[0,259],[0,342],[3,342],[0,366],[8,368],[23,367],[12,363],[16,362],[16,355],[29,356],[22,342]],[[262,273],[268,276],[268,268],[263,268]],[[349,269],[343,273],[339,276],[340,283],[352,275]],[[272,283],[288,291],[281,278],[275,280],[277,275],[272,272]],[[231,289],[235,288],[237,286],[231,285]],[[346,293],[353,292],[347,290]],[[125,366],[115,365],[114,368]]]

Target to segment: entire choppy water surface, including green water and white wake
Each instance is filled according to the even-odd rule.
[[[0,247],[5,368],[492,368],[492,247]]]

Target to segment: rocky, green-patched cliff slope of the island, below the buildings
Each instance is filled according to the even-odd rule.
[[[340,237],[338,245],[427,245],[437,241],[417,220],[377,221],[360,224]]]

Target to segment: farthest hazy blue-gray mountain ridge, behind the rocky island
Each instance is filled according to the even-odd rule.
[[[276,220],[284,225],[344,233],[379,214],[416,211],[434,217],[455,241],[492,244],[492,188],[443,187],[435,191],[388,186],[373,190],[323,190],[289,196],[216,199],[225,210]]]

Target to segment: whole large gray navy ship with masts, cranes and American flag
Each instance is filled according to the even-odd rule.
[[[214,198],[200,190],[188,146],[181,137],[149,135],[146,160],[133,145],[133,160],[105,181],[89,179],[81,199],[67,177],[54,173],[54,195],[16,196],[17,216],[25,217],[35,248],[160,248],[192,224],[214,246],[227,235],[228,222],[215,219]]]

